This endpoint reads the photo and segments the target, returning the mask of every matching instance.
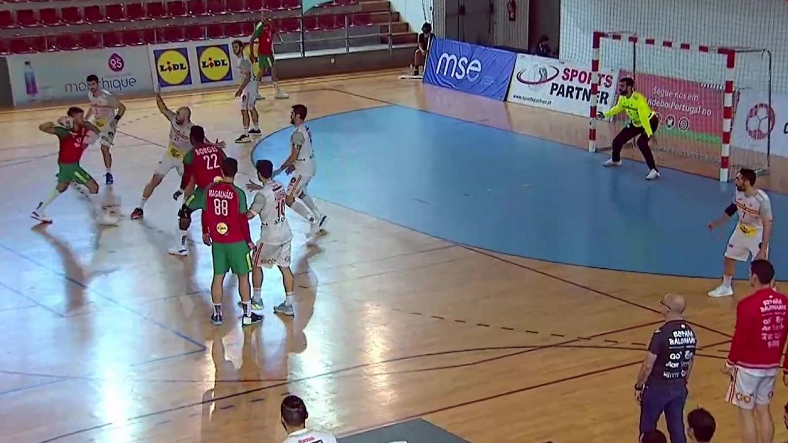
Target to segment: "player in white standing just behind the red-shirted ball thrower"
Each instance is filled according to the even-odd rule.
[[[90,100],[91,107],[87,110],[85,118],[90,119],[91,115],[95,117],[94,124],[101,129],[101,134],[99,134],[98,138],[101,143],[104,166],[106,167],[104,178],[106,184],[113,184],[115,178],[112,177],[110,146],[115,140],[115,128],[117,127],[117,122],[125,114],[126,106],[117,97],[110,94],[110,91],[100,88],[99,77],[94,74],[87,76],[87,87],[90,88],[90,91],[87,92],[87,99]],[[94,141],[91,140],[91,143]]]

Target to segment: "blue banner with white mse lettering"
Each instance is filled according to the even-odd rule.
[[[504,101],[517,55],[507,50],[433,38],[424,83]]]

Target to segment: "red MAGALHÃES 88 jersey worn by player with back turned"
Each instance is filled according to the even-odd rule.
[[[214,243],[252,243],[246,217],[246,194],[235,184],[220,181],[205,191],[203,234]]]

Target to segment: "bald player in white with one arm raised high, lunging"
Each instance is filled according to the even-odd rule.
[[[156,95],[156,106],[159,112],[167,117],[169,120],[169,145],[162,152],[162,158],[158,161],[158,166],[154,170],[151,181],[145,185],[143,189],[143,198],[139,201],[139,206],[132,211],[132,220],[143,217],[143,207],[147,199],[151,197],[154,189],[162,183],[162,179],[175,169],[180,177],[184,175],[184,156],[191,151],[191,141],[189,141],[189,132],[191,132],[191,110],[186,106],[181,106],[177,111],[173,112],[167,108],[161,95]],[[184,193],[186,184],[181,181],[180,189],[175,192],[173,197],[177,200],[181,194]]]

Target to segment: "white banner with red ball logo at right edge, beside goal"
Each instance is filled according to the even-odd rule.
[[[769,135],[771,134],[771,142]],[[730,144],[742,149],[788,157],[788,95],[742,91],[739,94]]]

